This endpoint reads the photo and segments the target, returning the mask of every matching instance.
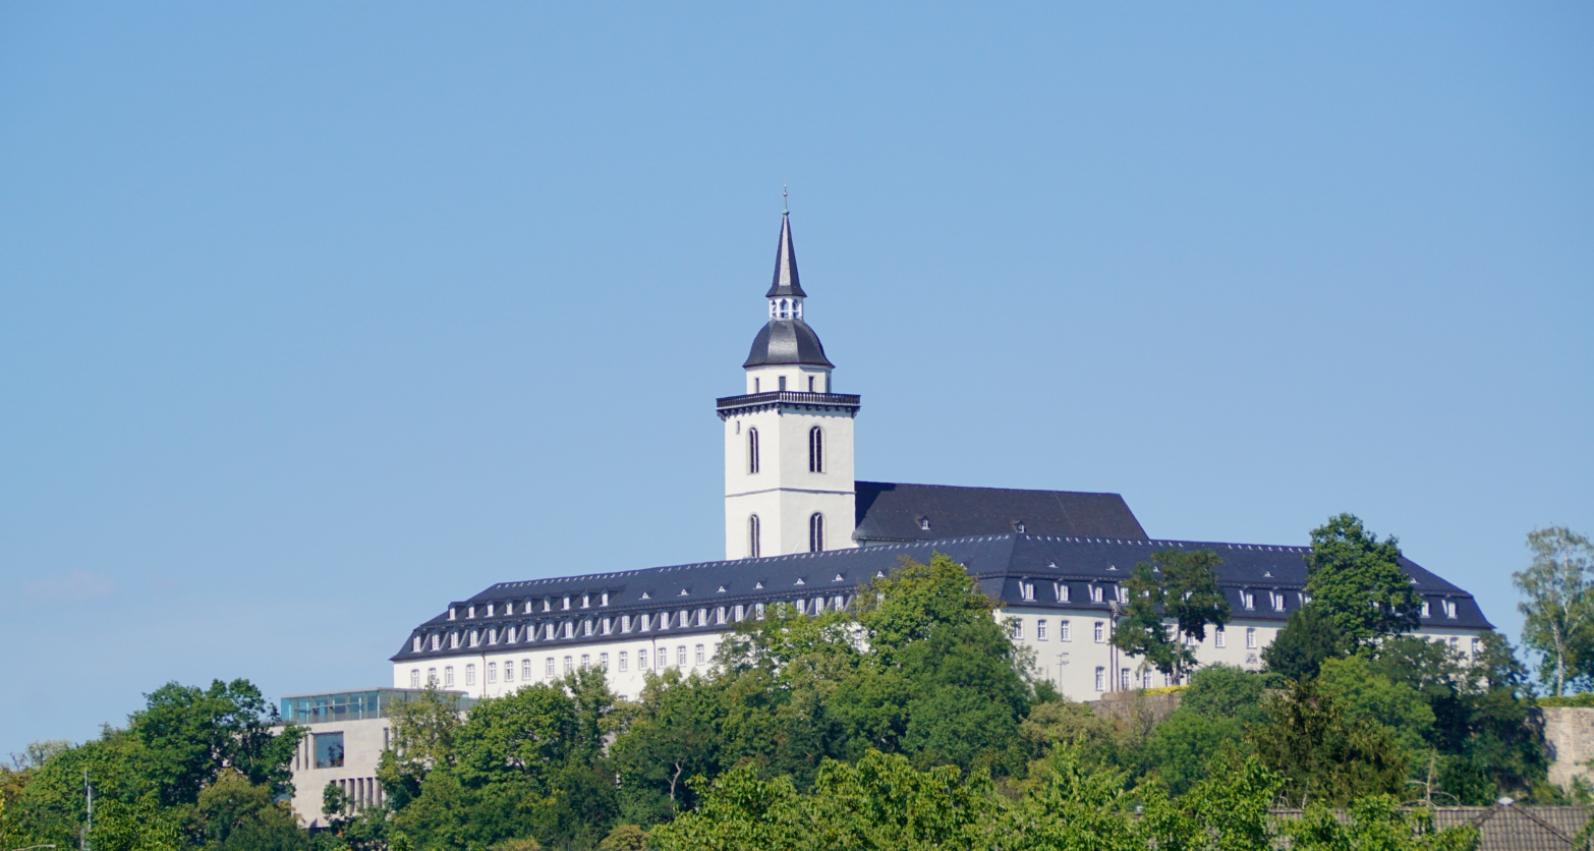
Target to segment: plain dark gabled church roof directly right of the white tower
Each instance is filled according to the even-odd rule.
[[[1146,531],[1117,494],[1017,491],[859,481],[859,542],[910,542],[1025,532],[1144,540]],[[929,529],[925,529],[925,524]],[[1020,529],[1022,524],[1022,529]]]

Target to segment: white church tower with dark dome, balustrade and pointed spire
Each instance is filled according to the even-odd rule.
[[[752,339],[746,387],[716,402],[725,427],[725,558],[856,547],[853,418],[830,390],[835,368],[803,320],[791,210],[781,214],[768,319]]]

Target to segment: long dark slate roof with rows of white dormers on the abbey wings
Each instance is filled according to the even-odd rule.
[[[698,564],[674,564],[642,571],[620,571],[574,577],[532,578],[501,582],[485,591],[451,604],[453,617],[445,609],[411,633],[422,637],[422,650],[413,650],[405,641],[394,661],[450,655],[481,653],[483,644],[472,647],[461,637],[457,649],[450,649],[448,634],[469,636],[470,629],[515,628],[516,637],[532,626],[539,634],[534,641],[499,644],[493,650],[558,647],[567,644],[591,644],[636,637],[674,637],[677,634],[714,633],[727,626],[717,622],[719,607],[727,610],[736,604],[771,604],[797,599],[811,601],[816,596],[850,599],[858,586],[894,569],[902,558],[928,561],[932,553],[945,553],[966,566],[980,588],[1007,607],[1054,609],[1073,612],[1101,612],[1105,617],[1117,583],[1129,575],[1137,563],[1160,550],[1211,548],[1223,559],[1218,569],[1219,583],[1229,596],[1235,622],[1282,622],[1301,607],[1305,583],[1304,547],[1270,547],[1256,543],[1205,543],[1188,540],[1129,540],[1109,537],[1066,535],[979,535],[918,543],[886,543],[826,553],[800,553],[773,558],[749,558],[735,561],[706,561]],[[1412,577],[1419,593],[1435,606],[1425,626],[1490,629],[1478,602],[1466,591],[1436,577],[1423,567],[1403,559],[1401,567]],[[1025,588],[1033,588],[1033,598]],[[1058,593],[1066,588],[1066,599]],[[1101,588],[1101,602],[1095,602],[1093,588]],[[1254,609],[1243,606],[1245,593],[1254,599]],[[582,594],[587,606],[582,607]],[[564,609],[564,598],[571,607]],[[1277,599],[1278,606],[1274,606]],[[1455,617],[1444,614],[1438,602],[1455,602]],[[494,617],[486,617],[486,606],[494,606]],[[508,606],[505,606],[508,604]],[[528,612],[528,604],[531,612]],[[470,609],[475,607],[475,617]],[[505,614],[505,609],[508,612]],[[547,610],[545,610],[547,609]],[[709,614],[708,623],[697,622],[697,612]],[[657,615],[690,612],[692,623],[673,623],[652,633],[622,636],[622,615]],[[611,631],[603,631],[609,622]],[[571,623],[574,636],[563,637],[564,625]],[[588,634],[587,623],[593,633]],[[553,625],[553,639],[540,637]],[[430,636],[443,636],[442,649],[430,650]]]

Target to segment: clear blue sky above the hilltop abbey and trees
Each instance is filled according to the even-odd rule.
[[[0,752],[717,558],[783,182],[859,476],[1594,532],[1594,6],[0,5]]]

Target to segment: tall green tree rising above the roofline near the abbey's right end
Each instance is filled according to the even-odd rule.
[[[1379,540],[1355,515],[1312,529],[1305,590],[1350,647],[1417,628],[1422,601],[1400,559],[1396,540]]]

